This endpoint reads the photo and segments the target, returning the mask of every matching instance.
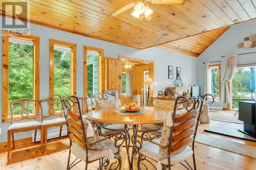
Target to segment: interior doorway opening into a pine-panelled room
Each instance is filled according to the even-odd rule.
[[[139,106],[146,105],[147,86],[144,81],[151,77],[154,81],[154,62],[119,56],[122,61],[122,89],[120,90],[121,105],[136,102]],[[150,90],[153,95],[154,88]]]

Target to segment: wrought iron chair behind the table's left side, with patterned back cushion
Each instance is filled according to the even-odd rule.
[[[102,109],[102,108],[112,108],[118,107],[121,105],[119,99],[116,99],[116,93],[113,91],[112,93],[104,92],[104,93],[97,93],[92,95],[91,93],[88,94],[90,97],[92,110]],[[109,96],[112,96],[114,100],[108,100]],[[89,108],[88,100],[87,100],[87,107]],[[118,132],[124,132],[124,126],[118,124],[103,124],[98,123],[98,133],[100,136],[109,136],[113,135]],[[130,134],[127,134],[130,138]]]

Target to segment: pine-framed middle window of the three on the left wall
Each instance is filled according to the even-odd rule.
[[[76,44],[50,39],[50,96],[76,95]]]

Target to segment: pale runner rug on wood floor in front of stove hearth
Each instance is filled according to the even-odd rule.
[[[256,147],[205,134],[197,134],[196,142],[256,159]]]

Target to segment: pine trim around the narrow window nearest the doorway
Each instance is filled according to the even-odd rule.
[[[83,46],[83,97],[87,98],[87,51],[96,51],[99,53],[99,92],[104,89],[104,74],[102,74],[103,62],[104,62],[104,50],[101,48],[96,48],[92,46]]]

